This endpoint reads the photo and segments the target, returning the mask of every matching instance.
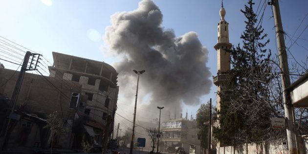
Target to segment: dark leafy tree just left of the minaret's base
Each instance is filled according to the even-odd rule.
[[[212,120],[217,119],[217,112],[212,106]],[[210,121],[210,104],[201,104],[197,111],[197,127],[199,128],[201,147],[204,149],[208,148],[209,145],[209,121]],[[213,123],[212,121],[212,123]]]

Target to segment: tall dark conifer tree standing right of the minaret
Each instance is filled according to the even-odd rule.
[[[254,3],[248,0],[248,6],[241,10],[246,27],[241,35],[242,45],[227,50],[231,54],[232,69],[221,98],[220,128],[214,135],[222,144],[240,145],[242,143],[261,143],[279,137],[277,130],[270,125],[270,116],[277,114],[271,102],[270,85],[276,79],[271,65],[271,51],[264,49],[269,40],[264,34],[257,15],[253,11]]]

